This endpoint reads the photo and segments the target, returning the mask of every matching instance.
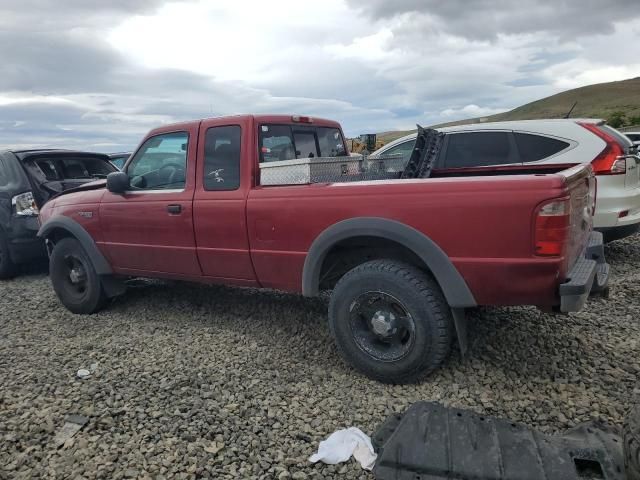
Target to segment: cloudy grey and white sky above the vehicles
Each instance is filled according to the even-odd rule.
[[[1,0],[0,148],[135,148],[237,113],[348,136],[640,76],[636,0]]]

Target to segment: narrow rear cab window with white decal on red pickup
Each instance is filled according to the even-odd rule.
[[[211,127],[204,140],[204,189],[240,187],[240,135],[238,125]]]

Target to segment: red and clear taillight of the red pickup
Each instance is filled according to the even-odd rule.
[[[563,198],[545,203],[536,214],[535,254],[559,257],[564,253],[569,234],[571,203]]]

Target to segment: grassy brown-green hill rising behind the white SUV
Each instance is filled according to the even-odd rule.
[[[468,123],[563,118],[575,102],[578,103],[571,112],[571,116],[574,118],[603,118],[618,127],[640,124],[640,77],[574,88],[527,103],[508,112],[434,126],[446,127]],[[414,130],[382,132],[378,134],[378,138],[388,143],[412,131]]]

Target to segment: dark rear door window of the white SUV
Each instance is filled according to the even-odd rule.
[[[445,168],[482,167],[516,163],[507,132],[449,134]]]

